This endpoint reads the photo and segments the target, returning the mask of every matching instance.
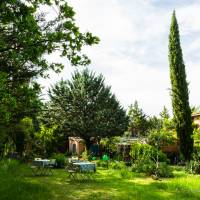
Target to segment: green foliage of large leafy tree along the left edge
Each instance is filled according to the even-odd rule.
[[[36,131],[39,128],[41,88],[35,80],[64,67],[47,55],[57,51],[72,65],[86,65],[90,60],[81,54],[83,46],[99,42],[90,32],[79,31],[74,15],[63,0],[0,1],[0,130],[9,127],[5,140],[11,139],[18,152],[14,127],[20,120],[31,117]]]

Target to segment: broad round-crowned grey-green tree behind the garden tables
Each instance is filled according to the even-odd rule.
[[[63,132],[81,136],[87,147],[91,137],[111,137],[126,130],[126,112],[110,87],[105,86],[102,75],[96,76],[88,69],[76,71],[71,81],[60,81],[49,95],[55,120]]]

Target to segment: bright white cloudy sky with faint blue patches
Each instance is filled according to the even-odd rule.
[[[99,45],[84,49],[92,60],[89,68],[104,75],[125,108],[138,100],[148,115],[158,115],[164,105],[171,110],[168,35],[175,9],[190,103],[200,105],[200,0],[70,0],[69,4],[77,12],[81,31],[101,39]],[[41,80],[45,89],[61,77],[71,77],[74,68],[62,62],[66,68],[60,75],[51,73],[51,79]]]

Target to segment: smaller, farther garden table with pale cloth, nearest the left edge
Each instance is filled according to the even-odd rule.
[[[52,174],[50,160],[34,160],[32,163],[32,170],[34,175],[48,175],[49,173]]]

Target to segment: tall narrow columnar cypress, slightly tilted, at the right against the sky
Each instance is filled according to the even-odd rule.
[[[175,11],[172,15],[169,35],[169,66],[171,79],[171,98],[180,152],[185,160],[190,160],[193,151],[192,118],[189,106],[188,83],[179,39],[179,28]]]

